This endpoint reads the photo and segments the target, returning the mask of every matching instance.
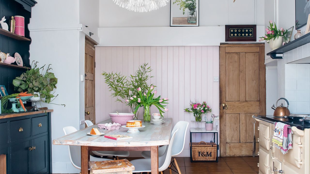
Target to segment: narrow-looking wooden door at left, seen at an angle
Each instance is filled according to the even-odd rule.
[[[95,45],[85,38],[85,120],[95,124]]]

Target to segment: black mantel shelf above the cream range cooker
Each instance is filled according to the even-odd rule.
[[[310,33],[307,33],[302,37],[299,37],[298,39],[291,41],[290,43],[287,43],[284,46],[281,46],[280,48],[267,53],[267,55],[268,56],[270,55],[272,59],[282,59],[282,56],[276,56],[276,54],[283,54],[299,46],[305,45],[309,42],[310,42]]]

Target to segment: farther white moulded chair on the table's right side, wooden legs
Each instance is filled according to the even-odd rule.
[[[179,128],[179,131],[175,134],[175,143],[173,143],[172,146],[172,153],[171,156],[172,158],[177,156],[178,154],[180,154],[183,149],[184,149],[184,144],[185,144],[185,136],[186,136],[186,132],[187,132],[187,128],[188,128],[188,122],[187,121],[179,121],[178,123],[175,124],[174,128]],[[171,132],[171,134],[173,133],[173,131]],[[166,150],[167,146],[161,146],[158,148],[158,156],[161,156],[164,154],[165,150]],[[141,155],[144,158],[151,158],[151,152],[150,151],[143,151],[141,153]],[[173,158],[173,161],[171,162],[169,169],[171,170],[171,166],[174,166],[175,169],[179,174],[181,174],[179,165],[176,161],[175,158]]]

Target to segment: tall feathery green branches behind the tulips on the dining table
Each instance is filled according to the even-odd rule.
[[[126,102],[125,100],[131,96],[138,96],[137,89],[140,87],[145,92],[149,85],[147,81],[153,77],[148,74],[152,71],[151,67],[148,67],[148,63],[144,63],[135,71],[135,74],[129,76],[123,76],[120,72],[108,73],[103,72],[104,82],[108,85],[109,91],[112,91],[111,96],[116,97],[117,102],[121,102],[130,107],[130,110],[134,113],[137,103]],[[151,84],[151,86],[154,86]],[[136,114],[136,113],[135,113]],[[135,118],[137,119],[136,115]]]

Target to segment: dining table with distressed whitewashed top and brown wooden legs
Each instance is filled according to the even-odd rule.
[[[127,133],[128,128],[120,127],[115,130],[99,129],[98,124],[78,130],[53,140],[54,145],[81,146],[81,172],[88,174],[88,162],[91,151],[151,151],[151,172],[158,173],[158,146],[170,143],[172,118],[166,118],[162,124],[146,123],[142,120],[144,128],[140,132]],[[111,119],[104,120],[99,124],[113,123]],[[69,125],[68,125],[69,126]],[[127,135],[131,139],[113,140],[102,136],[91,136],[86,133],[92,128],[98,128],[104,135]]]

